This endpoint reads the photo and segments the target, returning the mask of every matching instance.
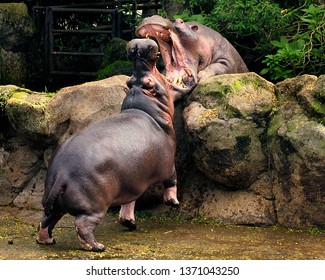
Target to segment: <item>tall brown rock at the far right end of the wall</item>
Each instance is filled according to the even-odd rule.
[[[268,138],[276,171],[275,206],[284,226],[325,226],[325,103],[320,98],[325,87],[320,85],[324,76],[304,75],[277,84],[280,106]],[[316,102],[320,110],[312,105]]]

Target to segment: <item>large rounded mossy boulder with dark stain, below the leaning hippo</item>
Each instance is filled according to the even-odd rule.
[[[184,111],[194,163],[215,182],[246,189],[268,168],[263,147],[276,97],[254,73],[203,80]]]

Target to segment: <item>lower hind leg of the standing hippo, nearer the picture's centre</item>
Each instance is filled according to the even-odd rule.
[[[75,227],[78,234],[80,246],[87,251],[103,252],[105,246],[97,242],[94,231],[105,216],[105,213],[100,214],[79,214],[75,219]]]

